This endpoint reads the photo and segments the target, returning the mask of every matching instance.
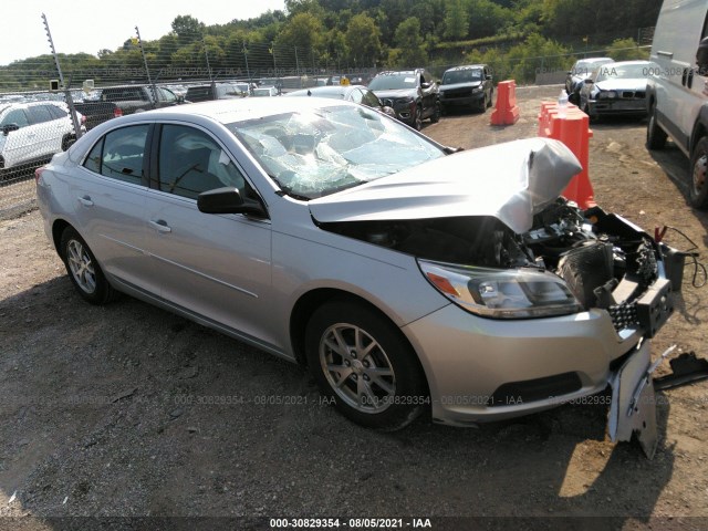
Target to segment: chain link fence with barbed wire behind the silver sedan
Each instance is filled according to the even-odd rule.
[[[357,64],[324,50],[247,42],[228,33],[181,31],[143,41],[138,28],[118,50],[62,55],[43,20],[51,54],[0,66],[0,219],[33,208],[34,170],[113,117],[185,102],[337,84],[343,77],[367,84],[384,70],[373,59],[360,58]],[[639,30],[638,39],[641,44],[650,42],[649,29]],[[575,59],[593,53],[605,51],[502,56],[489,64],[494,81],[561,83]],[[436,62],[428,70],[440,77],[458,64]]]

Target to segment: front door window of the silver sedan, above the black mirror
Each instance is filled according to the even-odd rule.
[[[209,135],[194,127],[163,126],[158,164],[158,188],[163,191],[190,199],[223,187],[246,194],[243,177],[228,154]]]

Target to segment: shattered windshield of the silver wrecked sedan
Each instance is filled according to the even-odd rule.
[[[334,106],[228,124],[278,186],[314,199],[445,156],[376,111]]]

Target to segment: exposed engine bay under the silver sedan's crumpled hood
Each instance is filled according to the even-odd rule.
[[[625,219],[559,198],[517,235],[491,216],[321,223],[322,229],[416,258],[497,269],[535,268],[562,278],[581,305],[605,309],[617,330],[641,325],[649,336],[673,311],[673,251]],[[666,266],[673,267],[667,271]]]

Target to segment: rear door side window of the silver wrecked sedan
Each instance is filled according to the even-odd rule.
[[[84,167],[97,174],[139,185],[148,125],[134,125],[112,131],[93,147]]]

